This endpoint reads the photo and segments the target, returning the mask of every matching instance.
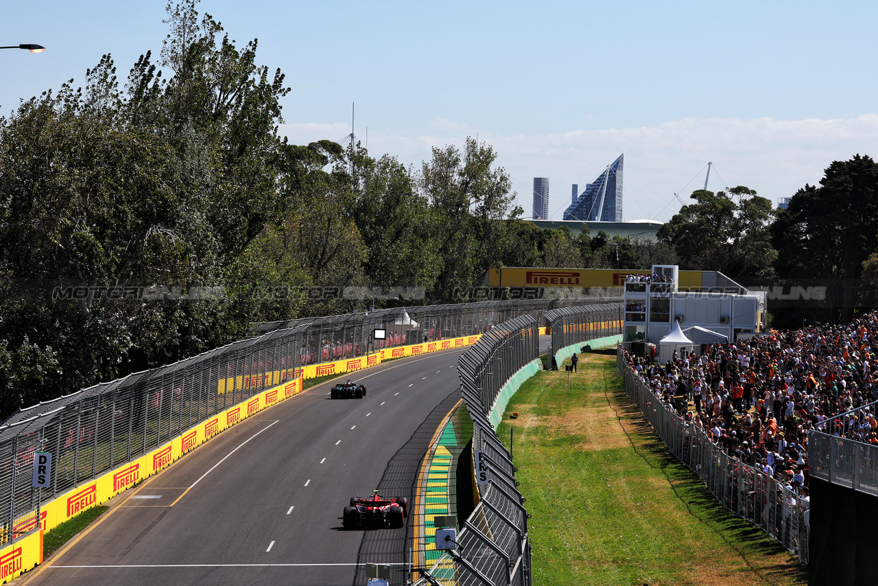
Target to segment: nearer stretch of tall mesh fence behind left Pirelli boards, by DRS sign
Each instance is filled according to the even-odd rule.
[[[277,329],[14,413],[0,425],[0,546],[39,527],[39,503],[298,379],[305,330]],[[35,452],[52,453],[47,488],[31,488]]]

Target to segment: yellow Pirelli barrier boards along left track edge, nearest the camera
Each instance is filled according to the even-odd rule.
[[[210,419],[198,423],[195,427],[184,431],[184,433],[166,444],[159,446],[152,452],[148,452],[140,458],[123,464],[111,472],[98,476],[95,480],[86,484],[73,488],[66,494],[55,498],[52,501],[43,503],[40,509],[40,518],[36,517],[36,512],[30,512],[25,517],[16,519],[12,527],[12,531],[22,534],[31,531],[40,525],[43,531],[54,529],[57,525],[67,521],[70,517],[81,513],[83,510],[89,509],[96,504],[104,503],[112,496],[118,495],[120,492],[132,488],[138,482],[160,472],[162,469],[169,467],[171,463],[179,459],[186,452],[190,452],[198,445],[205,443],[220,431],[225,430],[235,423],[238,423],[249,416],[262,411],[277,402],[299,394],[302,392],[302,379],[287,380],[281,385],[270,387],[262,392],[253,395],[248,400],[238,403],[229,409],[220,411]],[[40,532],[35,533],[40,535]],[[19,539],[15,545],[22,546],[23,552],[20,559],[23,568],[32,568],[33,562],[28,557],[27,546],[25,542],[30,539]],[[27,542],[29,543],[29,542]],[[42,546],[39,547],[40,554]],[[12,559],[12,558],[11,558]],[[15,558],[18,560],[19,558]],[[18,561],[12,566],[18,564]],[[28,565],[30,564],[30,565]],[[12,567],[10,566],[10,567]],[[2,582],[2,580],[0,580]]]

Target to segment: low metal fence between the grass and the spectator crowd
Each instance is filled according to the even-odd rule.
[[[759,468],[723,452],[705,430],[666,407],[627,363],[621,344],[616,367],[626,392],[652,429],[677,459],[701,477],[716,500],[808,563],[810,503]]]

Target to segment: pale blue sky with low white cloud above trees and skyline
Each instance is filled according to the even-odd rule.
[[[670,219],[704,181],[775,202],[833,160],[878,156],[878,4],[867,2],[270,2],[203,0],[286,74],[291,141],[356,134],[419,166],[479,135],[529,214],[533,177],[560,219],[625,154],[627,219]],[[111,53],[124,77],[161,51],[164,3],[4,2],[0,112]],[[691,183],[690,183],[691,182]]]

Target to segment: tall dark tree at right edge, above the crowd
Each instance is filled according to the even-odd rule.
[[[868,156],[834,161],[820,186],[806,184],[774,221],[781,277],[825,279],[831,322],[850,321],[856,307],[856,279],[878,245],[878,164]],[[812,282],[812,281],[811,281]]]

